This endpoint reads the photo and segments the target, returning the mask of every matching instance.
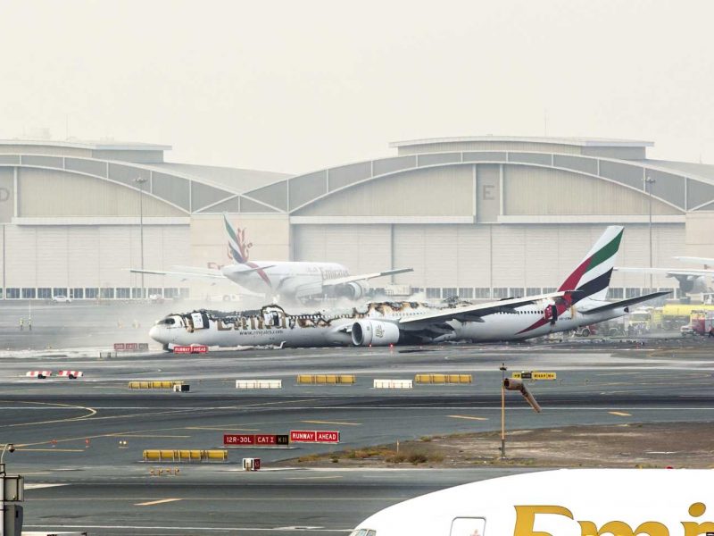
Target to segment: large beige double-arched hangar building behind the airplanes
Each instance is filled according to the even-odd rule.
[[[646,158],[651,142],[464,137],[395,142],[396,155],[290,176],[164,161],[169,146],[0,142],[3,299],[140,297],[146,269],[228,264],[221,214],[253,260],[335,261],[429,298],[549,291],[609,224],[618,263],[714,256],[714,165]],[[276,158],[279,154],[276,153]],[[649,181],[648,181],[649,179]],[[653,180],[653,182],[652,182]],[[652,196],[648,188],[652,189]],[[648,276],[616,273],[612,297]],[[677,282],[655,277],[654,287]],[[230,292],[146,275],[146,292]]]

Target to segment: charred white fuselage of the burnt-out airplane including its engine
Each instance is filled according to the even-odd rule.
[[[591,300],[586,305],[593,304]],[[280,345],[287,347],[386,346],[398,343],[473,340],[479,342],[522,340],[557,331],[569,331],[595,322],[627,314],[627,307],[584,315],[572,307],[557,318],[547,318],[549,300],[532,306],[514,308],[509,313],[484,316],[480,322],[450,320],[442,331],[400,329],[401,319],[418,320],[430,313],[444,313],[449,307],[418,302],[370,303],[363,309],[328,314],[286,314],[279,306],[265,306],[261,311],[216,314],[196,311],[170,314],[154,325],[150,335],[164,346],[205,345],[237,346]],[[453,309],[456,309],[454,307]],[[361,333],[361,336],[358,334]],[[368,337],[370,333],[370,337]]]

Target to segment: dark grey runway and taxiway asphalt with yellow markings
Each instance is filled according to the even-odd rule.
[[[0,355],[0,442],[24,473],[26,530],[91,534],[347,533],[404,498],[523,469],[303,469],[275,462],[334,449],[500,428],[499,367],[552,371],[530,384],[536,415],[508,393],[510,430],[570,424],[714,422],[714,344],[647,341],[425,348],[248,350],[207,356],[120,356],[80,350]],[[79,380],[28,379],[80,370]],[[297,385],[298,373],[355,374],[353,386]],[[467,373],[467,385],[372,389],[415,373]],[[188,393],[129,390],[130,380],[182,380]],[[283,389],[238,390],[237,379]],[[337,430],[338,446],[229,448],[228,463],[147,464],[145,448],[222,448],[224,433]],[[498,445],[494,444],[494,456]],[[245,473],[243,457],[263,470]],[[156,470],[162,468],[162,475]],[[179,468],[179,474],[174,473]],[[154,469],[154,475],[151,470]],[[166,470],[170,469],[170,474]],[[534,470],[528,468],[527,470]]]

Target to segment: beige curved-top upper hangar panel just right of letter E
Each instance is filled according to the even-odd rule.
[[[507,215],[649,214],[649,199],[644,193],[607,180],[509,165],[505,166],[503,179]],[[652,214],[682,213],[654,199]]]

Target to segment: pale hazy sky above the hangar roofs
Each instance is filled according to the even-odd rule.
[[[69,123],[308,172],[397,139],[541,136],[547,114],[548,135],[714,163],[709,0],[2,0],[0,17],[0,138]]]

